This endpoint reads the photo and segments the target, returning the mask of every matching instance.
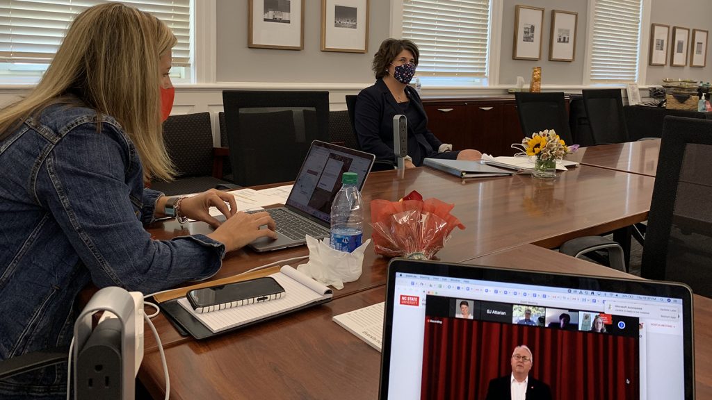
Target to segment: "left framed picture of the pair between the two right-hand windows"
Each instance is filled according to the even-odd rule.
[[[541,58],[544,9],[517,4],[514,13],[512,58],[515,60],[539,60]]]

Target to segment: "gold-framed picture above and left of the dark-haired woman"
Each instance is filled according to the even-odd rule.
[[[321,51],[368,51],[369,2],[321,0]]]

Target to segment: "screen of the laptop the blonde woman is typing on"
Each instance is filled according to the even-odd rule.
[[[287,206],[330,222],[331,203],[341,189],[344,172],[358,174],[363,188],[374,159],[373,154],[315,140],[304,159],[287,199]]]

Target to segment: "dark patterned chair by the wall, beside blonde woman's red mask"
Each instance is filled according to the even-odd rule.
[[[213,147],[209,112],[168,117],[163,123],[163,139],[177,178],[171,182],[152,180],[152,189],[173,196],[215,187],[239,187],[221,179],[222,157],[226,151]]]

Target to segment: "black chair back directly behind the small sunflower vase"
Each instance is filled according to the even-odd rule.
[[[524,136],[553,129],[566,144],[573,144],[564,93],[516,92],[514,98]]]

